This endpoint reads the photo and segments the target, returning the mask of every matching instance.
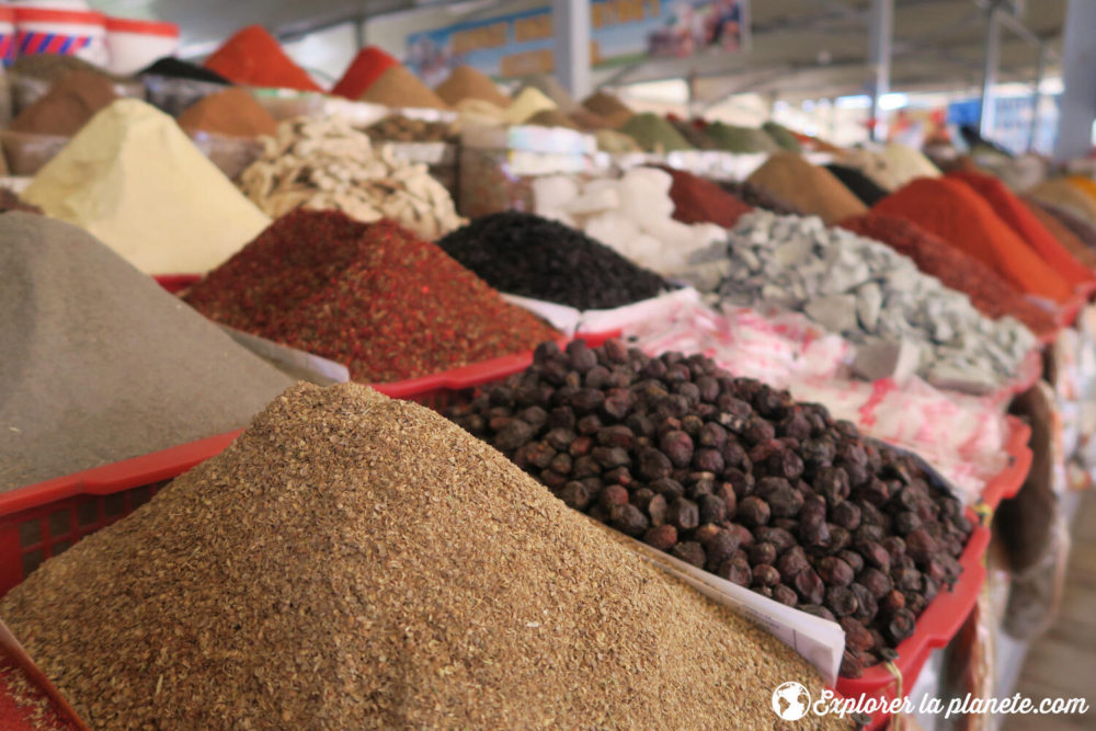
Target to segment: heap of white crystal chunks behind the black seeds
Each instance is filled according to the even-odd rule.
[[[674,219],[673,180],[655,168],[586,181],[546,175],[533,183],[535,210],[584,231],[640,266],[669,274],[683,267],[694,251],[727,239],[720,226]]]

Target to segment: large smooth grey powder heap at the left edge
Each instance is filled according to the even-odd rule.
[[[0,216],[0,490],[239,429],[290,380],[84,231]]]

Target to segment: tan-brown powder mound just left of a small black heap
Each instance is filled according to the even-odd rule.
[[[746,180],[829,225],[868,212],[832,172],[795,152],[776,152]]]

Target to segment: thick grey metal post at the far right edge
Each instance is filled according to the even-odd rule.
[[[1054,157],[1072,160],[1084,157],[1093,146],[1096,121],[1096,2],[1070,0],[1065,11],[1063,43],[1062,114],[1058,122]]]

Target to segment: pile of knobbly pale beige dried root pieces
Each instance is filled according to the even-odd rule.
[[[335,209],[361,221],[389,218],[434,240],[460,226],[449,192],[426,165],[396,157],[345,119],[300,117],[265,139],[240,187],[273,218],[297,208]]]

